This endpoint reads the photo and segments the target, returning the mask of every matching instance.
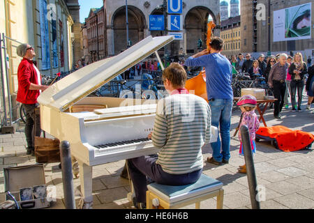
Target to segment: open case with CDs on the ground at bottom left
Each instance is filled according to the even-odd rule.
[[[43,164],[4,168],[4,187],[22,209],[50,207]],[[12,198],[6,194],[6,200]]]

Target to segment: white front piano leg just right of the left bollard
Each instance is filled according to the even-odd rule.
[[[92,179],[93,167],[77,160],[80,168],[81,192],[84,198],[82,209],[90,209],[93,206]]]

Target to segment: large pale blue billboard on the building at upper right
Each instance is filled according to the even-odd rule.
[[[274,11],[274,42],[311,38],[312,3]]]

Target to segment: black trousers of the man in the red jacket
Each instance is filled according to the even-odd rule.
[[[25,137],[27,140],[28,148],[34,148],[34,139],[36,137],[40,137],[41,129],[40,129],[40,115],[36,115],[36,127],[35,127],[35,108],[38,104],[22,104],[26,112],[26,123],[25,123]],[[36,130],[36,132],[35,132]]]

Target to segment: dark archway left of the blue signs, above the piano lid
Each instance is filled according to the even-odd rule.
[[[145,16],[139,8],[128,6],[128,38],[132,45],[144,39]],[[112,15],[114,31],[114,54],[126,49],[126,6],[118,8]]]

